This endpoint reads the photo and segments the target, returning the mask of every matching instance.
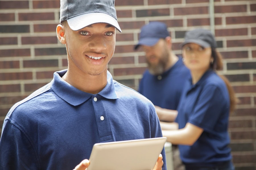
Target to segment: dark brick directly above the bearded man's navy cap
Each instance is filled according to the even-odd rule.
[[[170,9],[144,9],[136,10],[136,17],[148,17],[148,16],[169,16]]]

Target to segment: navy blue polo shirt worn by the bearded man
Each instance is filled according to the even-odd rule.
[[[181,58],[162,75],[152,75],[146,70],[139,84],[138,92],[156,106],[177,110],[185,81],[190,72]]]

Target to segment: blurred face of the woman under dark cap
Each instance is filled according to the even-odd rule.
[[[182,47],[182,56],[185,66],[192,72],[204,73],[210,67],[212,50],[195,43],[188,43]]]

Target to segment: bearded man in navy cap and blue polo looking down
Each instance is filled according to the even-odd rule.
[[[166,24],[149,22],[141,28],[139,42],[146,54],[148,69],[144,72],[139,84],[139,92],[147,97],[156,107],[162,129],[177,129],[174,122],[183,84],[189,78],[189,70],[183,65],[181,57],[172,51],[172,38]],[[168,125],[168,127],[166,127]],[[173,145],[174,170],[184,166],[179,158],[177,145]],[[167,160],[168,161],[168,160]]]

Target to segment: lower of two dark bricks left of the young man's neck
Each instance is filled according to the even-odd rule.
[[[33,67],[57,67],[57,59],[46,59],[46,60],[26,60],[23,61],[24,68],[33,68]]]

